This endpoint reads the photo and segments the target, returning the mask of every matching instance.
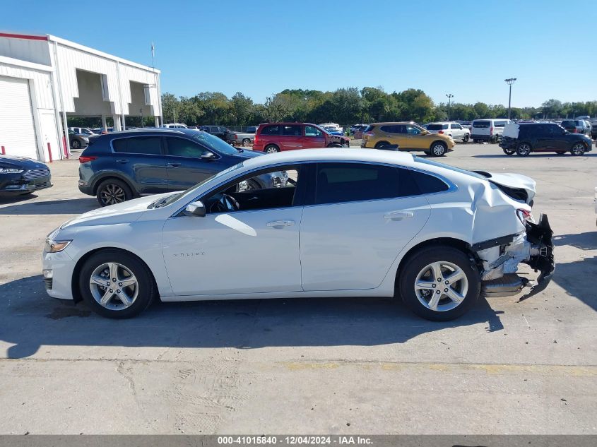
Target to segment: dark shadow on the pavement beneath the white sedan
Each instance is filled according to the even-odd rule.
[[[41,345],[102,347],[236,347],[384,345],[422,333],[488,323],[502,330],[501,312],[485,299],[465,316],[434,323],[380,298],[256,299],[156,303],[137,318],[110,320],[47,296],[40,275],[0,285],[0,340],[8,358]]]

